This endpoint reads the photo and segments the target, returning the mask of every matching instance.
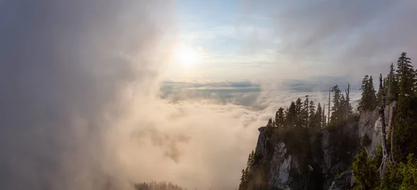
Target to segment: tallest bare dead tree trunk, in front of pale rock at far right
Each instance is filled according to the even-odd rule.
[[[385,92],[384,87],[382,87],[382,74],[379,74],[379,89],[382,92],[382,101],[379,107],[379,115],[381,116],[381,132],[382,132],[382,163],[379,166],[379,174],[381,179],[384,179],[384,174],[386,171],[386,162],[391,160],[388,157],[388,150],[386,148],[386,130],[385,130]]]

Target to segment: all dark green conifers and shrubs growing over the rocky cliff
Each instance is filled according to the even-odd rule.
[[[361,150],[352,163],[353,155],[350,153],[357,153],[359,144],[362,148],[369,146],[371,139],[368,135],[364,135],[360,140],[352,139],[349,135],[343,134],[343,130],[338,130],[359,121],[359,114],[352,113],[349,103],[350,85],[345,94],[338,85],[331,87],[329,93],[332,96],[332,107],[328,120],[325,116],[328,105],[315,104],[309,100],[309,96],[304,100],[297,98],[286,109],[279,107],[275,119],[269,119],[266,126],[266,148],[274,148],[278,141],[284,141],[287,155],[297,157],[300,165],[301,173],[295,172],[291,174],[291,178],[300,179],[297,182],[300,182],[301,186],[306,179],[310,179],[309,187],[313,184],[315,189],[320,189],[323,176],[320,166],[314,166],[312,160],[322,159],[320,131],[327,130],[331,134],[329,141],[337,147],[332,151],[332,156],[345,164],[328,175],[334,177],[351,169],[356,184],[354,189],[417,189],[417,159],[414,157],[417,154],[417,71],[411,66],[411,59],[407,57],[407,53],[401,53],[396,68],[395,64],[391,63],[389,74],[380,81],[383,85],[375,91],[373,76],[363,77],[358,111],[362,113],[375,110],[383,102],[383,97],[386,98],[385,103],[397,102],[393,112],[393,123],[387,123],[392,125],[386,137],[386,159],[383,159],[382,147],[379,146],[373,153],[373,158],[368,157],[365,150]],[[258,164],[260,171],[268,168],[268,163],[265,164],[263,159],[265,158],[254,159],[254,156],[250,155],[247,169],[243,170],[242,188],[239,189],[248,189],[245,183],[247,184],[251,178],[250,169],[254,163]],[[382,160],[386,160],[386,163],[382,164]],[[385,170],[380,169],[385,165]],[[309,171],[311,166],[313,171]],[[259,175],[263,176],[264,172]],[[258,180],[265,179],[261,177]]]

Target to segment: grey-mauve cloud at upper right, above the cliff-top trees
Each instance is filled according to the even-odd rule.
[[[262,26],[272,28],[269,42],[252,40],[265,46],[278,42],[272,47],[277,64],[264,76],[343,76],[357,83],[366,74],[386,74],[402,51],[417,56],[414,1],[249,0],[245,5],[243,18],[266,18]]]

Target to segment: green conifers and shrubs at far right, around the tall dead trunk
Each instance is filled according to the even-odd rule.
[[[384,178],[378,171],[382,162],[382,151],[379,150],[376,158],[370,159],[366,152],[362,151],[357,155],[353,163],[353,173],[356,189],[417,189],[417,160],[414,154],[417,153],[417,73],[411,66],[411,59],[407,53],[401,53],[397,61],[397,69],[394,64],[390,65],[389,74],[384,78],[384,89],[378,89],[377,100],[382,99],[382,92],[387,94],[388,101],[398,101],[395,112],[395,125],[393,136],[387,146],[393,152],[387,156],[393,162],[387,161],[388,168]],[[373,87],[365,76],[362,83],[361,111],[372,110],[377,103],[373,102]],[[391,129],[392,130],[392,129]],[[368,141],[363,138],[361,144],[366,145]],[[381,148],[379,148],[381,149]]]

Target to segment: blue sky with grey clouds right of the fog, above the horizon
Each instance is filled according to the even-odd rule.
[[[414,1],[181,0],[175,7],[179,42],[204,58],[170,67],[165,78],[357,82],[386,74],[402,51],[416,55]]]

